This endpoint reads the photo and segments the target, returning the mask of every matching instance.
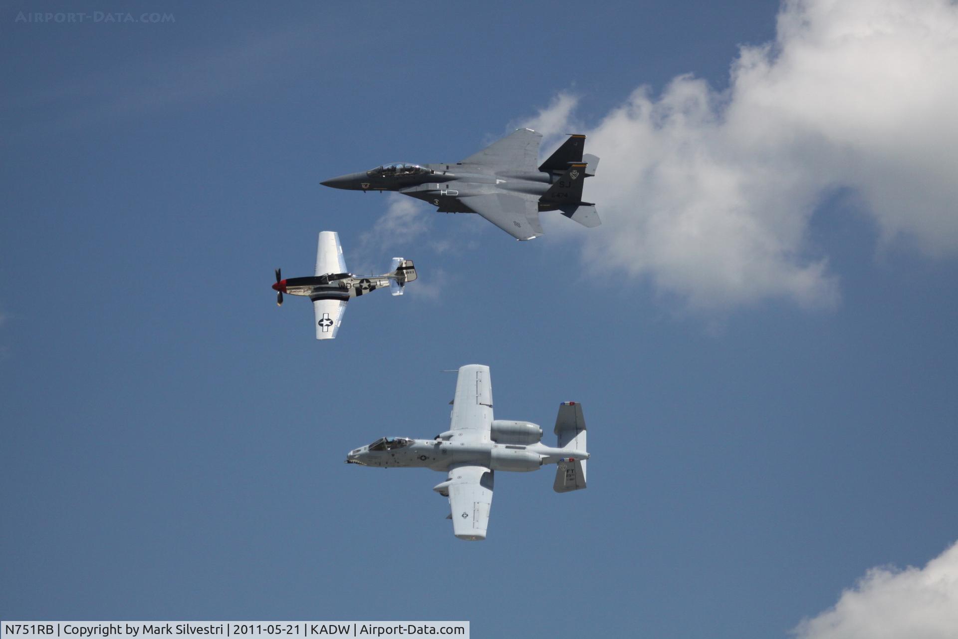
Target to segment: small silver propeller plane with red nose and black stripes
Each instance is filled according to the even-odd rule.
[[[346,271],[339,234],[322,231],[316,246],[316,270],[313,277],[283,279],[276,269],[276,304],[283,306],[283,294],[303,295],[312,300],[316,321],[316,339],[332,339],[339,331],[346,312],[346,303],[354,297],[389,286],[393,295],[401,295],[402,287],[416,279],[412,260],[393,258],[392,272],[370,277],[357,277]]]

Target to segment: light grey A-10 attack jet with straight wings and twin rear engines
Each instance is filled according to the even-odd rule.
[[[433,491],[449,498],[452,532],[460,539],[486,538],[496,470],[526,472],[556,464],[557,492],[585,488],[585,420],[582,404],[559,404],[555,447],[541,444],[535,423],[492,419],[489,367],[459,369],[449,430],[433,440],[384,437],[350,451],[347,464],[377,468],[431,468],[447,472]]]

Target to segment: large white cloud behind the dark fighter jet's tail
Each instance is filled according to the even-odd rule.
[[[601,273],[648,277],[691,308],[768,298],[829,307],[838,285],[809,238],[816,206],[855,193],[883,245],[958,253],[958,6],[947,0],[788,0],[776,40],[741,47],[729,87],[692,76],[639,87],[606,114],[584,232]],[[527,126],[568,132],[561,94]],[[553,232],[550,229],[550,232]]]

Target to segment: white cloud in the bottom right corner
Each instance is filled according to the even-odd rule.
[[[838,603],[793,630],[798,639],[954,639],[958,544],[924,568],[872,568]]]

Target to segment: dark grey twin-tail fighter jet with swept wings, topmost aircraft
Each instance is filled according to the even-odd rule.
[[[572,135],[536,167],[542,135],[520,128],[462,162],[384,164],[333,177],[325,186],[354,191],[398,191],[425,200],[440,213],[477,213],[516,240],[542,235],[538,214],[559,211],[582,226],[602,224],[596,207],[582,201],[582,181],[599,158],[582,155],[584,135]]]

